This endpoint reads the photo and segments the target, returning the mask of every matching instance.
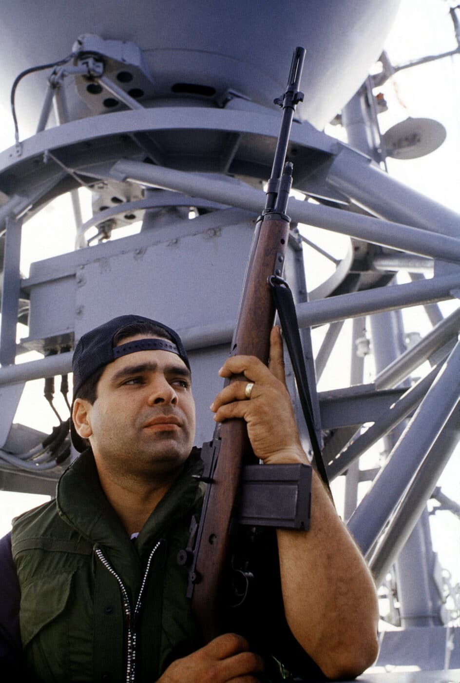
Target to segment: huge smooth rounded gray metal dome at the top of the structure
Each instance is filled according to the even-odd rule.
[[[168,5],[135,0],[115,7],[106,0],[96,4],[81,0],[66,2],[59,14],[52,0],[26,5],[8,0],[2,5],[0,88],[9,92],[13,79],[32,66],[31,61],[46,64],[65,57],[78,36],[99,33],[109,39],[103,49],[111,55],[114,66],[109,64],[109,68],[115,75],[120,70],[132,72],[130,87],[139,85],[139,72],[149,76],[144,75],[142,100],[177,100],[181,94],[173,92],[173,86],[182,83],[212,87],[216,95],[201,95],[201,99],[214,106],[216,100],[225,102],[241,94],[273,107],[273,93],[285,85],[283,67],[289,64],[293,46],[306,44],[308,61],[301,87],[309,96],[298,115],[322,127],[366,78],[369,66],[382,52],[398,6],[399,0],[373,0],[365,6],[342,0],[339,11],[333,0],[320,5],[306,0],[301,8],[296,0],[285,1],[283,8],[273,1],[248,5],[235,0],[229,6],[220,5],[216,12],[212,0],[193,4],[176,0]],[[19,25],[27,51],[17,49]],[[90,52],[100,48],[97,37],[84,42]],[[130,69],[131,65],[136,69]],[[37,74],[28,81],[18,92],[18,112],[22,120],[27,115],[36,120],[46,80]],[[85,89],[85,104],[71,87],[68,94],[72,118],[87,116],[90,107],[98,106],[94,100],[99,104],[100,98]]]

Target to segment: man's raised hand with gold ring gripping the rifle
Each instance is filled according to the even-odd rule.
[[[242,374],[222,389],[211,404],[214,419],[222,422],[233,417],[246,420],[248,436],[257,458],[267,464],[305,462],[291,398],[286,388],[283,341],[278,327],[270,335],[268,367],[253,356],[231,356],[220,368],[221,377]],[[245,389],[254,382],[248,400]]]

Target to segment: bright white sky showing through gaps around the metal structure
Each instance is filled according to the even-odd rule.
[[[452,3],[453,4],[453,3]],[[403,0],[401,9],[395,20],[394,27],[386,42],[386,50],[393,65],[403,64],[411,59],[429,54],[439,54],[455,48],[455,35],[452,22],[448,14],[450,3],[446,0]],[[460,56],[442,59],[432,64],[417,66],[396,74],[382,86],[382,92],[388,102],[388,111],[379,115],[382,133],[392,125],[405,120],[407,117],[428,117],[441,122],[446,128],[446,141],[435,152],[411,161],[397,161],[388,159],[389,173],[405,182],[407,185],[440,201],[440,203],[460,212],[460,195],[458,192],[460,174],[458,160],[460,153],[460,125],[458,111],[460,111]],[[12,128],[9,113],[5,114],[5,125],[0,130],[0,148],[8,148],[13,143]],[[337,126],[328,126],[326,132],[330,135],[341,135]],[[89,195],[81,192],[83,204],[83,219],[91,215]],[[67,220],[69,229],[63,229],[63,215],[72,215],[69,200],[60,198],[46,210],[46,221],[40,224],[33,219],[23,229],[23,250],[21,268],[26,274],[29,264],[37,260],[38,242],[46,245],[41,258],[72,251],[74,248],[74,227],[72,219]],[[324,234],[319,229],[308,229],[308,238],[321,240],[334,255],[340,256],[345,248],[346,238]],[[335,251],[334,251],[335,250]],[[309,286],[315,286],[314,274]],[[449,313],[456,303],[441,305],[445,314]],[[420,331],[422,334],[429,329],[425,313],[420,309],[408,309],[404,313],[406,330]],[[345,326],[344,335],[349,334],[349,326]],[[25,336],[25,329],[19,331],[19,336]],[[313,336],[313,344],[317,349],[321,339]],[[339,347],[339,344],[337,345]],[[33,359],[33,354],[23,357],[23,361]],[[338,363],[343,359],[338,358]],[[319,389],[337,387],[336,367],[325,372]],[[366,364],[364,381],[371,381],[373,367],[371,360]],[[347,380],[344,380],[344,385]],[[55,425],[55,417],[42,399],[42,380],[29,382],[23,399],[21,400],[16,421],[40,429],[51,431]],[[38,410],[38,404],[44,404],[43,410]],[[56,400],[62,415],[66,415],[66,408],[59,398]],[[442,477],[444,492],[452,499],[460,502],[460,455],[452,456]],[[336,489],[340,494],[339,486]],[[42,497],[20,495],[13,492],[0,492],[0,535],[10,528],[11,518],[34,507],[43,500]],[[456,581],[460,581],[460,520],[447,512],[438,513],[431,518],[433,544],[440,554],[443,566],[450,571]]]

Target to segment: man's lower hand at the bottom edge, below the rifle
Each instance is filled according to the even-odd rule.
[[[263,660],[249,652],[249,643],[235,633],[214,638],[205,647],[177,659],[158,683],[257,683]]]

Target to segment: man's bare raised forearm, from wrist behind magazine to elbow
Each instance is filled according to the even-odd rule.
[[[310,530],[277,535],[293,635],[329,678],[362,673],[378,652],[375,585],[315,472]]]

